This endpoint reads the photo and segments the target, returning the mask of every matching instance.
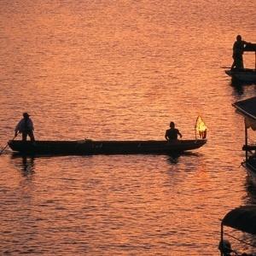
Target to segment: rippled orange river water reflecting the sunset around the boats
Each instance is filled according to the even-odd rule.
[[[170,120],[207,145],[181,156],[0,157],[0,251],[19,255],[218,255],[220,221],[255,203],[232,102],[238,33],[256,2],[0,2],[0,142],[27,111],[38,139],[163,139]],[[246,67],[254,55],[245,55]]]

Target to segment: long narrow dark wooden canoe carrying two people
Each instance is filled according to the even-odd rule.
[[[20,154],[177,154],[201,148],[207,140],[166,141],[9,141]]]

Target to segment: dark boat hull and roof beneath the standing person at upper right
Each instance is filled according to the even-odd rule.
[[[255,53],[255,68],[234,68],[225,70],[224,72],[235,81],[237,80],[245,83],[256,83],[256,44],[247,44],[243,51]]]

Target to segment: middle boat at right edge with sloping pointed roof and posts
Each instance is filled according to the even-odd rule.
[[[256,184],[256,144],[248,144],[247,129],[252,128],[256,131],[256,97],[249,98],[240,102],[235,102],[233,106],[238,113],[241,113],[245,121],[245,145],[242,149],[246,152],[246,160],[242,163]]]

